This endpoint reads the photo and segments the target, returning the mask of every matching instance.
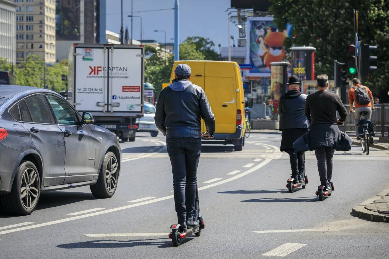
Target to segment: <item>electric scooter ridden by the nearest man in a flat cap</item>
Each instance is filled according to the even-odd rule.
[[[193,234],[196,236],[201,235],[202,229],[205,228],[205,223],[203,220],[203,217],[199,214],[200,212],[200,205],[198,201],[198,189],[196,186],[196,202],[195,202],[195,210],[193,211],[193,221],[197,221],[198,226],[196,227],[190,227],[187,226],[187,231],[184,231],[182,226],[180,224],[173,224],[170,226],[170,229],[172,229],[172,232],[169,233],[169,238],[172,240],[173,245],[175,247],[178,247],[185,237],[189,237]]]

